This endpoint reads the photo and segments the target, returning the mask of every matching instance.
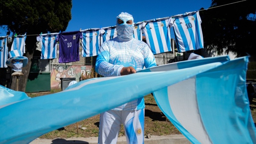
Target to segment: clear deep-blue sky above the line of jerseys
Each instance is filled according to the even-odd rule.
[[[134,22],[140,22],[207,9],[211,3],[212,0],[72,0],[72,18],[65,32],[115,26],[121,12],[130,13]],[[6,36],[3,28],[0,36]]]

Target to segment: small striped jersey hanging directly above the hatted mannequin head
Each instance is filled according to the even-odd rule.
[[[12,42],[11,51],[20,50],[21,52],[25,53],[26,37],[26,34],[24,36],[15,36]]]

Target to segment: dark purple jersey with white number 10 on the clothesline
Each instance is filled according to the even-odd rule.
[[[79,38],[83,35],[80,31],[60,33],[56,41],[59,41],[59,63],[79,61]]]

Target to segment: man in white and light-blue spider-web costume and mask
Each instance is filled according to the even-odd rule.
[[[156,66],[148,45],[133,38],[133,17],[121,12],[116,19],[117,37],[105,41],[98,52],[95,70],[98,74],[123,76]],[[122,95],[120,95],[122,96]],[[99,144],[115,144],[121,124],[127,143],[144,143],[144,98],[125,103],[100,114]]]

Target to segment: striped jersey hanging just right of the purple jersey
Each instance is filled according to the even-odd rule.
[[[100,29],[85,29],[82,35],[82,57],[96,56],[100,47]]]

